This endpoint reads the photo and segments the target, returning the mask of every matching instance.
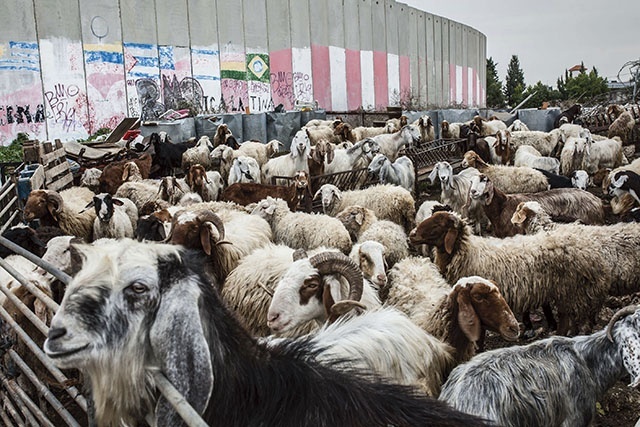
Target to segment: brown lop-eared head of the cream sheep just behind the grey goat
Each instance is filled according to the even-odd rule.
[[[520,327],[509,304],[496,284],[478,276],[465,277],[453,286],[449,301],[457,306],[458,325],[474,343],[482,339],[484,329],[497,332],[507,341],[520,336]]]

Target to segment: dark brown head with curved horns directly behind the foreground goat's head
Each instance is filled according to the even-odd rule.
[[[180,211],[173,216],[168,240],[174,245],[200,249],[211,255],[213,248],[223,243],[224,223],[210,210]]]

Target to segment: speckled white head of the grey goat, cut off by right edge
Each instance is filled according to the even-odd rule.
[[[607,337],[622,351],[622,363],[631,375],[630,387],[640,385],[640,306],[618,310],[607,326]]]

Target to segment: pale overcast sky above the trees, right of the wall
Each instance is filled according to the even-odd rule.
[[[616,80],[623,64],[640,59],[640,0],[399,1],[483,33],[502,82],[512,55],[527,85],[540,80],[551,86],[582,61]]]

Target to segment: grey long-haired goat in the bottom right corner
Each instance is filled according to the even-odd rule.
[[[440,400],[508,426],[586,426],[617,380],[640,383],[640,311],[618,311],[605,330],[551,337],[480,354],[453,370]]]

